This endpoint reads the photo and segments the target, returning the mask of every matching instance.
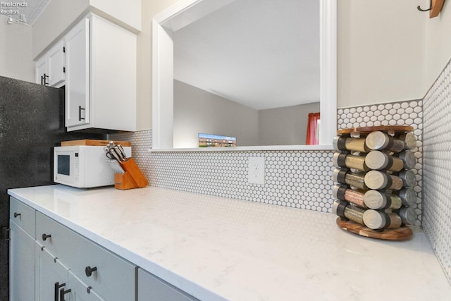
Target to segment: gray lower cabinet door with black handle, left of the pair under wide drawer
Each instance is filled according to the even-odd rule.
[[[26,300],[58,301],[59,291],[68,289],[68,269],[39,242],[35,243],[35,254],[35,298]]]

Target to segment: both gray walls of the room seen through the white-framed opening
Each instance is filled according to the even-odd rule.
[[[257,111],[174,80],[174,147],[198,147],[197,134],[237,137],[237,146],[304,145],[319,102]]]

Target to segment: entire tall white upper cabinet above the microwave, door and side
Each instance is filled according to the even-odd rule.
[[[136,129],[136,35],[89,14],[66,35],[68,130]]]

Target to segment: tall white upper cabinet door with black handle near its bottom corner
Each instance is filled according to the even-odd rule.
[[[89,123],[89,19],[66,39],[66,127]]]

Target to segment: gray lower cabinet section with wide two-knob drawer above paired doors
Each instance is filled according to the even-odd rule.
[[[47,252],[54,257],[54,262],[67,269],[66,285],[59,289],[66,293],[55,300],[136,300],[135,265],[39,211],[36,212],[36,235],[37,244],[44,250],[41,252]],[[36,252],[39,254],[38,250]],[[56,281],[63,280],[52,280],[51,288]],[[42,283],[40,287],[42,289]]]

